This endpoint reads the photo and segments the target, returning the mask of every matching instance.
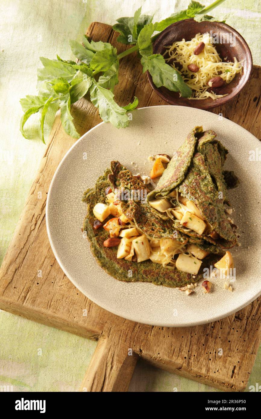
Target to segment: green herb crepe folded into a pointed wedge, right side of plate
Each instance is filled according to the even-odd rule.
[[[151,200],[162,197],[176,189],[181,196],[196,204],[204,219],[220,235],[220,239],[213,241],[209,236],[197,235],[194,231],[184,229],[179,222],[175,222],[176,230],[204,238],[222,248],[231,248],[236,243],[236,237],[225,216],[224,202],[229,204],[227,183],[230,187],[236,186],[237,178],[233,172],[224,173],[228,151],[215,137],[214,131],[203,132],[202,127],[195,127],[174,154],[157,187],[147,198]]]

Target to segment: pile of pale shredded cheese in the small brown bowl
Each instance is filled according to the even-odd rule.
[[[204,50],[199,55],[194,55],[194,49],[200,42],[204,42]],[[222,62],[217,50],[210,42],[209,34],[196,34],[191,41],[175,42],[168,45],[163,55],[167,55],[166,62],[173,60],[171,64],[184,77],[185,83],[193,91],[189,99],[212,99],[227,95],[217,95],[208,91],[208,81],[213,77],[221,77],[226,83],[230,83],[237,73],[242,72],[242,64],[234,57],[234,62]],[[178,63],[179,66],[175,66]],[[195,64],[199,71],[194,73],[188,69],[189,64]],[[180,71],[181,66],[181,71]],[[178,67],[178,68],[177,68]]]

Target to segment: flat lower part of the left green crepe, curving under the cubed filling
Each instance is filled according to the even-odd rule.
[[[121,166],[121,168],[123,168],[123,166]],[[214,263],[220,259],[220,256],[213,254],[207,256],[203,260],[199,274],[191,275],[186,272],[180,272],[177,269],[166,269],[161,264],[155,264],[150,260],[137,263],[126,261],[125,259],[117,259],[117,247],[107,248],[103,246],[103,242],[108,238],[108,232],[102,227],[98,230],[93,228],[93,223],[96,220],[93,215],[93,207],[98,202],[107,203],[105,190],[111,186],[111,183],[108,181],[108,175],[110,174],[111,170],[107,169],[103,176],[98,178],[95,187],[87,189],[83,196],[83,201],[88,204],[87,215],[83,222],[83,230],[87,233],[91,250],[98,264],[105,269],[109,275],[125,282],[152,282],[155,285],[182,287],[202,279],[204,267],[214,265]],[[113,180],[111,179],[111,181]],[[117,186],[120,185],[117,183]],[[122,203],[122,205],[123,204],[124,203]],[[103,224],[108,220],[109,217],[104,220]]]

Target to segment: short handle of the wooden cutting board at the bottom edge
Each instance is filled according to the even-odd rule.
[[[119,335],[103,337],[98,340],[97,347],[85,373],[80,391],[128,391],[129,383],[138,355],[127,347]]]

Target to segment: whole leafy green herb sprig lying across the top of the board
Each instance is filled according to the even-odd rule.
[[[152,23],[153,16],[142,15],[141,7],[136,10],[133,17],[117,19],[113,26],[119,32],[117,41],[122,44],[133,45],[121,54],[108,42],[94,42],[87,36],[83,37],[83,44],[70,41],[73,54],[79,60],[63,60],[40,57],[44,67],[37,71],[38,96],[28,95],[20,100],[23,116],[20,130],[25,138],[24,124],[27,119],[37,112],[40,113],[41,137],[44,141],[44,119],[51,103],[57,103],[61,110],[61,122],[65,132],[73,138],[80,134],[75,129],[70,114],[71,105],[90,93],[90,100],[99,109],[101,119],[111,122],[114,127],[125,128],[129,125],[127,111],[132,111],[138,105],[134,97],[127,106],[119,106],[114,101],[114,86],[119,83],[119,61],[133,52],[139,52],[143,72],[149,71],[153,83],[165,86],[167,89],[179,92],[183,97],[190,97],[191,89],[186,85],[181,75],[165,62],[161,54],[152,53],[152,42],[172,23],[187,18],[197,21],[216,20],[206,14],[224,0],[216,0],[212,5],[204,6],[194,0],[186,10],[174,13],[160,22]],[[154,32],[157,32],[155,35]]]

